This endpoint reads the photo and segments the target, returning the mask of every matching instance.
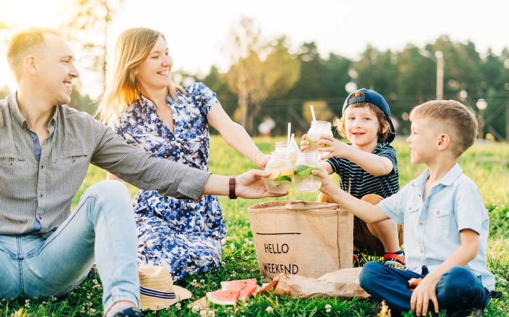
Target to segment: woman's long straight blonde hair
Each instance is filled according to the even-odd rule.
[[[159,31],[146,27],[130,28],[119,36],[115,45],[114,72],[95,113],[103,123],[118,123],[122,111],[138,99],[140,91],[136,67],[149,56],[159,37],[166,42]],[[174,100],[177,91],[185,93],[182,87],[172,82],[168,93]]]

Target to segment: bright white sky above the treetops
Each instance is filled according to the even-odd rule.
[[[70,0],[0,0],[0,22],[58,27],[66,18]],[[468,3],[468,4],[466,4]],[[323,56],[329,52],[356,58],[371,43],[380,50],[401,50],[406,44],[423,46],[446,34],[453,41],[470,40],[479,52],[509,47],[509,2],[428,0],[329,1],[313,0],[125,0],[109,30],[109,51],[118,35],[129,27],[145,26],[161,31],[174,59],[174,70],[207,74],[212,65],[226,71],[229,58],[221,50],[231,25],[242,16],[256,19],[266,38],[287,35],[295,50],[315,41]],[[0,86],[14,88],[0,51]],[[112,56],[108,56],[111,60]],[[77,64],[80,68],[79,60]],[[98,87],[80,68],[85,92]],[[9,75],[8,75],[9,74]]]

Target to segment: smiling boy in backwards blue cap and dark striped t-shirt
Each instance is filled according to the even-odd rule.
[[[385,99],[374,90],[356,90],[343,105],[342,118],[334,122],[340,134],[351,144],[321,136],[318,150],[328,152],[322,168],[340,177],[340,187],[352,196],[378,203],[400,189],[396,150],[390,146],[394,140],[394,126]],[[302,137],[301,150],[307,149],[306,136]],[[320,194],[317,201],[331,202]],[[354,262],[357,250],[371,255],[384,255],[384,264],[405,269],[405,256],[401,250],[403,226],[393,220],[366,224],[354,217]]]

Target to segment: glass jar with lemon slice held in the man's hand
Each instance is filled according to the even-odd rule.
[[[269,177],[264,179],[267,192],[285,194],[292,186],[293,167],[287,151],[275,151],[270,155],[269,162],[265,166],[270,171]]]

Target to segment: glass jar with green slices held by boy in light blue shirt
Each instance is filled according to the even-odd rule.
[[[293,170],[295,186],[300,192],[316,192],[322,186],[320,177],[311,173],[313,170],[322,171],[316,152],[300,153]]]

